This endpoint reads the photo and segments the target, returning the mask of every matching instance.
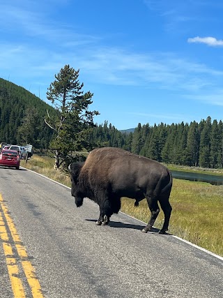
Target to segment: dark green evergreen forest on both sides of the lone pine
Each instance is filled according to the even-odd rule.
[[[0,142],[49,149],[52,130],[45,124],[47,112],[58,113],[26,89],[0,78]],[[223,167],[223,122],[210,116],[199,123],[138,124],[130,133],[105,121],[95,124],[88,138],[92,148],[120,147],[167,164]]]

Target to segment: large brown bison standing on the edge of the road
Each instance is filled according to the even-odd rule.
[[[160,234],[167,234],[171,205],[169,195],[172,187],[171,172],[161,163],[144,156],[113,147],[91,151],[84,163],[71,163],[68,167],[72,182],[71,195],[77,207],[89,198],[100,207],[97,225],[107,225],[110,217],[121,209],[121,198],[135,200],[138,206],[146,198],[151,211],[148,225],[151,230],[160,207],[164,212],[164,224]]]

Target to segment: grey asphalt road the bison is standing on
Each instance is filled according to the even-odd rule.
[[[86,199],[77,209],[65,186],[0,168],[0,194],[1,298],[15,297],[19,285],[13,292],[10,278],[34,298],[223,297],[223,260],[170,235],[143,234],[143,224],[125,214],[96,226],[98,206]],[[20,270],[11,277],[7,245]],[[24,261],[33,276],[25,276]],[[33,294],[30,281],[40,285]]]

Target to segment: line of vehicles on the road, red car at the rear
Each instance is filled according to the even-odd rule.
[[[0,165],[4,167],[15,167],[20,169],[20,160],[30,158],[32,153],[26,146],[11,145],[7,143],[0,144]]]

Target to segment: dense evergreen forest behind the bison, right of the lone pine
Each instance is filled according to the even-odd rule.
[[[223,123],[210,117],[190,124],[139,124],[134,133],[121,133],[105,122],[94,128],[93,141],[163,163],[223,167]]]

